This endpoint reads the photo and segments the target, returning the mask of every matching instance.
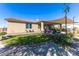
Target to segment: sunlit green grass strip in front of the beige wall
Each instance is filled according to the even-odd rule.
[[[28,36],[15,36],[7,40],[3,40],[8,45],[26,45],[26,44],[37,44],[50,40],[49,35],[28,35]]]

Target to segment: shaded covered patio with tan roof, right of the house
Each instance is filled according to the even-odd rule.
[[[38,24],[40,25],[40,30],[42,32],[62,32],[65,30],[67,30],[67,28],[65,28],[63,26],[63,24],[65,24],[65,18],[61,18],[61,19],[57,19],[57,20],[49,20],[49,21],[40,21],[38,22]],[[73,20],[71,19],[67,19],[67,24],[74,24]],[[54,26],[58,25],[59,29],[55,29]]]

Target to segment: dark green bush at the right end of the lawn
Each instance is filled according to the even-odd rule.
[[[70,34],[59,34],[54,36],[54,42],[63,45],[70,46],[72,43],[72,36]]]

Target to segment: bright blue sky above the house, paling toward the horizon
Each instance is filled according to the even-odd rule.
[[[68,18],[79,22],[79,4],[68,4]],[[64,3],[0,3],[0,27],[7,27],[5,18],[56,20],[64,17]]]

